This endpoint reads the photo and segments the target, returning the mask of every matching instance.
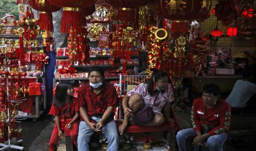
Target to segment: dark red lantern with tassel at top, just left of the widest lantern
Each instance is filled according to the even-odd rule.
[[[117,19],[125,22],[135,21],[134,8],[142,7],[148,4],[151,0],[106,0],[114,8],[118,8]]]

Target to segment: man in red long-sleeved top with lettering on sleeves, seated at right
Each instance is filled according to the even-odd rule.
[[[179,150],[191,150],[190,141],[196,145],[195,148],[206,142],[210,151],[223,150],[222,146],[227,139],[226,132],[230,128],[231,107],[219,97],[219,86],[215,84],[204,85],[202,97],[193,101],[191,111],[193,128],[184,129],[177,133]]]

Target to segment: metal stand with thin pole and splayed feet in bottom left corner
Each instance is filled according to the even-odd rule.
[[[10,113],[9,113],[10,112],[9,111],[9,81],[8,81],[8,77],[7,77],[6,89],[7,89],[7,101],[8,101],[8,108],[7,108],[8,120],[7,121],[10,122]],[[10,126],[8,124],[8,144],[0,143],[0,146],[3,147],[3,148],[0,148],[0,150],[6,150],[8,148],[14,148],[14,149],[23,150],[24,147],[22,147],[22,146],[15,146],[15,145],[10,143],[9,131],[10,131]],[[23,140],[17,141],[17,143],[22,143],[22,142],[23,142]]]

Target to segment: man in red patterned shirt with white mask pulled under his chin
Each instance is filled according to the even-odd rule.
[[[78,90],[81,122],[78,131],[78,150],[89,150],[92,133],[102,130],[107,138],[107,150],[118,150],[117,126],[113,110],[117,106],[115,87],[104,83],[104,71],[93,67],[89,71],[89,83]]]

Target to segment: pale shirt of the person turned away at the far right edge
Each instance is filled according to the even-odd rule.
[[[240,79],[236,81],[230,95],[226,98],[226,102],[231,107],[243,108],[246,107],[247,101],[253,94],[256,94],[256,84]]]

